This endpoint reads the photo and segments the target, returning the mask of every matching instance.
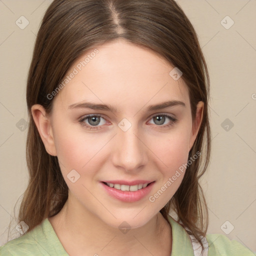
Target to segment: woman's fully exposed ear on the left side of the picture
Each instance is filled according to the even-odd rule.
[[[56,148],[49,116],[42,105],[35,104],[31,107],[33,120],[40,134],[45,150],[48,154],[56,156]]]

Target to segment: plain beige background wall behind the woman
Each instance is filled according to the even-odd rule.
[[[27,185],[27,129],[20,119],[27,120],[26,76],[50,2],[0,0],[0,245],[6,241],[14,204]],[[255,252],[256,0],[177,2],[198,33],[211,78],[212,154],[201,182],[208,202],[208,233],[226,232]],[[24,29],[15,24],[22,15],[29,21]]]

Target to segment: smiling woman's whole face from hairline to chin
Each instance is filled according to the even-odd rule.
[[[40,135],[58,157],[68,200],[110,226],[139,227],[180,185],[199,125],[182,76],[174,80],[163,58],[122,40],[95,48],[67,72]]]

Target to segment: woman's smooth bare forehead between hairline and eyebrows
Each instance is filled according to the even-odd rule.
[[[91,48],[73,63],[65,86],[55,97],[65,108],[83,100],[134,110],[146,102],[188,102],[182,78],[174,80],[169,75],[173,68],[150,49],[124,40],[109,42]]]

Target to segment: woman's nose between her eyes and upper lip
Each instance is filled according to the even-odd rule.
[[[143,142],[143,136],[135,125],[131,125],[127,131],[118,127],[112,148],[114,166],[127,172],[142,168],[148,161],[148,148]]]

